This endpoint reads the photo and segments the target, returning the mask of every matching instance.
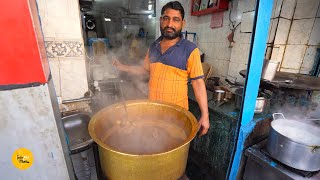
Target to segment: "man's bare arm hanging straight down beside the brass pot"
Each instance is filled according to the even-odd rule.
[[[203,79],[195,79],[191,82],[194,94],[201,110],[201,118],[199,124],[201,126],[200,136],[202,136],[208,132],[208,129],[210,127],[206,86]]]

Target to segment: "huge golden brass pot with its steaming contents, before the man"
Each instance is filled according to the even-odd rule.
[[[89,123],[89,134],[99,145],[103,174],[111,180],[179,179],[183,176],[190,141],[199,129],[196,118],[170,103],[134,100],[125,104],[126,108],[118,103],[102,109]],[[185,137],[180,143],[159,151],[157,147],[152,148],[171,139],[158,142],[157,131],[165,132],[164,137],[172,137],[172,140],[181,134]]]

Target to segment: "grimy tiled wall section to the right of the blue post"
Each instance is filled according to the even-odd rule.
[[[320,44],[319,0],[274,0],[267,58],[280,71],[309,74]]]

